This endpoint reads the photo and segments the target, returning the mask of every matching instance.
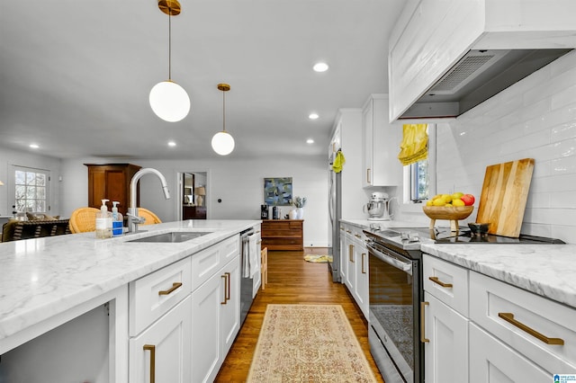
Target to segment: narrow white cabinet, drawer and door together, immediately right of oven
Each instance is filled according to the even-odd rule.
[[[468,380],[468,272],[432,258],[423,259],[424,376],[427,382]]]

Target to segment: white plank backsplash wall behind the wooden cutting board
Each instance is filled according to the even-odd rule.
[[[536,165],[521,233],[576,244],[576,52],[437,125],[437,192],[479,197],[486,166],[528,157]]]

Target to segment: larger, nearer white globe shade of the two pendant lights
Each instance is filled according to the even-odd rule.
[[[168,122],[184,119],[190,111],[190,97],[184,88],[172,80],[154,85],[149,96],[150,107],[156,115]]]

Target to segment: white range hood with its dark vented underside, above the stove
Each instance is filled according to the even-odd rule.
[[[411,0],[389,41],[390,120],[472,109],[576,48],[574,14],[571,0]]]

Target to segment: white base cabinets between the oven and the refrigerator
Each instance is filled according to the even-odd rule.
[[[340,223],[344,234],[340,237],[344,282],[356,304],[368,318],[368,250],[362,228]]]

